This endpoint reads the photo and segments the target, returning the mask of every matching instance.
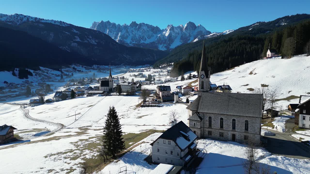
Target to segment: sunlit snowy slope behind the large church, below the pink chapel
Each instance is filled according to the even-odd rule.
[[[299,95],[310,94],[310,56],[298,55],[291,59],[263,59],[246,63],[211,75],[216,85],[230,85],[234,93],[251,93],[266,86],[278,89],[283,107],[298,103]],[[295,99],[294,99],[295,98]]]

